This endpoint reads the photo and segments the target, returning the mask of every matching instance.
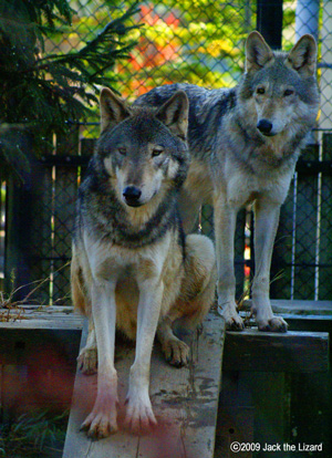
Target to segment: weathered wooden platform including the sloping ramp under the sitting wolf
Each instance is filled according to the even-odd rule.
[[[319,330],[331,327],[330,324],[326,326],[332,322],[331,302],[272,301],[272,304],[274,310],[289,319],[290,329],[293,322],[301,323],[303,330],[312,329],[313,322],[322,325]],[[241,313],[248,316],[247,306]],[[0,322],[2,375],[6,376],[6,367],[25,365],[40,367],[42,372],[45,367],[49,367],[49,372],[59,371],[62,381],[63,361],[71,362],[68,372],[73,374],[83,319],[74,314],[72,308],[24,308],[23,311],[11,311],[7,321],[7,312],[0,310],[0,313],[4,320]],[[241,333],[227,332],[222,392],[218,405],[224,336],[221,319],[211,312],[203,334],[191,343],[191,363],[181,369],[166,364],[156,344],[152,361],[151,395],[159,426],[149,436],[134,437],[122,429],[108,439],[92,441],[84,433],[80,433],[80,425],[94,402],[96,377],[77,373],[63,456],[228,458],[234,457],[229,448],[234,440],[288,441],[290,406],[286,399],[291,398],[290,381],[299,381],[299,385],[294,385],[294,393],[298,393],[303,377],[309,376],[305,378],[307,386],[311,387],[308,385],[311,379],[309,373],[313,376],[322,374],[320,383],[324,386],[329,368],[329,333],[289,331],[287,334],[276,334],[261,333],[255,327]],[[83,332],[81,344],[84,339]],[[120,343],[116,351],[122,406],[120,425],[124,416],[123,404],[133,358],[134,347]],[[20,379],[20,374],[17,379]],[[73,386],[73,382],[70,384]],[[51,396],[45,395],[49,404],[61,396],[63,385],[59,386],[56,393],[52,386]],[[326,396],[322,393],[322,399],[326,400]],[[1,403],[4,407],[8,404],[6,399],[1,399]],[[266,429],[266,418],[269,418],[269,430]]]

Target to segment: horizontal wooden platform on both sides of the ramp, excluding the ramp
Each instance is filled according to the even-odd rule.
[[[249,304],[249,301],[245,304],[243,316]],[[290,331],[286,334],[261,333],[252,322],[253,327],[241,333],[227,332],[224,369],[301,373],[307,371],[310,362],[310,372],[326,371],[328,333],[293,332],[291,322],[302,321],[304,329],[310,329],[312,321],[332,322],[332,302],[272,301],[272,305],[277,313],[289,320]],[[0,321],[0,364],[29,364],[34,361],[38,345],[45,343],[54,350],[62,348],[69,358],[75,360],[79,354],[84,318],[74,313],[71,306],[25,306],[20,311],[0,312],[3,318]],[[10,318],[4,320],[9,313]]]

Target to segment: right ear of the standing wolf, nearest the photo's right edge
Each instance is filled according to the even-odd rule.
[[[312,35],[303,35],[287,58],[287,65],[294,69],[302,76],[312,76],[315,73],[317,44]]]

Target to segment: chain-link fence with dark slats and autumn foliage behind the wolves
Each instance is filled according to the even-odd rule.
[[[82,46],[92,33],[102,30],[127,7],[121,1],[116,6],[112,3],[111,7],[100,0],[73,1],[76,13],[71,30],[48,42],[46,52],[68,52]],[[264,10],[268,3],[271,11]],[[166,0],[163,4],[142,3],[133,21],[144,24],[128,37],[128,40],[136,40],[137,45],[128,59],[121,60],[113,70],[113,89],[129,101],[157,85],[174,82],[206,87],[234,86],[243,71],[246,37],[257,28],[263,34],[264,31],[270,33],[264,37],[271,45],[281,44],[286,50],[290,50],[303,33],[315,35],[320,117],[311,136],[312,145],[302,155],[282,208],[272,260],[271,295],[331,300],[332,2]],[[27,204],[31,218],[29,249],[21,242],[20,261],[18,254],[8,251],[6,256],[7,275],[15,262],[23,263],[23,274],[18,279],[21,283],[28,279],[49,278],[42,285],[44,301],[49,298],[51,302],[69,301],[69,267],[63,266],[71,256],[75,196],[92,153],[93,138],[98,135],[97,117],[96,107],[89,123],[73,126],[72,138],[58,138],[54,152],[37,165],[30,190],[34,202]],[[8,188],[7,194],[11,192],[14,191]],[[25,199],[22,192],[20,199],[22,211]],[[200,227],[212,236],[210,208],[203,209]],[[24,240],[27,235],[21,233],[22,230],[19,232]],[[8,240],[13,237],[7,236]],[[255,269],[251,208],[240,212],[236,237],[237,294],[241,296],[247,294]]]

